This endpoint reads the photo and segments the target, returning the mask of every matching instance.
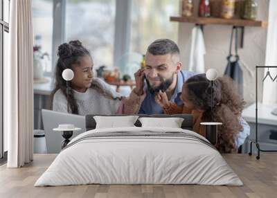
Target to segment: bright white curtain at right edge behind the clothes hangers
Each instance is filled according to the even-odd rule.
[[[266,66],[277,66],[277,1],[269,1],[269,19],[267,28],[267,48],[265,55]],[[277,68],[269,69],[272,78],[277,75]],[[265,69],[265,75],[267,69]],[[262,103],[277,103],[277,78],[274,82],[267,78],[263,84]]]

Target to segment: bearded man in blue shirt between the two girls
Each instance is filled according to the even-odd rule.
[[[129,106],[135,114],[163,114],[163,109],[155,101],[159,91],[166,92],[168,99],[182,106],[181,90],[184,82],[197,74],[181,70],[179,47],[170,39],[158,39],[148,46],[145,54],[145,69],[139,69],[134,75],[136,88],[132,90]],[[238,134],[236,144],[240,147],[250,134],[250,127],[240,117],[243,127]]]

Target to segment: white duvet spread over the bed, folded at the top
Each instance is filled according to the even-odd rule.
[[[165,127],[93,129],[73,138],[69,147],[35,186],[100,184],[204,184],[242,186],[237,174],[213,147],[194,138],[120,136],[84,138],[101,132],[182,132]],[[80,138],[84,138],[80,141]],[[70,146],[71,145],[71,146]]]

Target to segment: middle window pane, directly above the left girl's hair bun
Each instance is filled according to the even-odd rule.
[[[114,66],[116,0],[66,1],[66,42],[79,39],[96,67]]]

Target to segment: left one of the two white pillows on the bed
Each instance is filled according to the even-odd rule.
[[[135,127],[134,123],[139,116],[93,116],[96,120],[96,129]]]

